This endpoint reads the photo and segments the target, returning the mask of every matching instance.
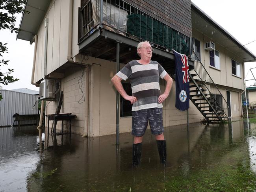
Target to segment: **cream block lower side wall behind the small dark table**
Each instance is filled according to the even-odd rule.
[[[60,113],[76,114],[77,118],[72,120],[71,130],[73,133],[83,135],[88,129],[89,66],[74,65],[67,70],[65,78],[61,79],[61,90],[63,91],[63,104]],[[58,101],[46,102],[46,114],[54,114],[57,105]],[[52,122],[50,127],[51,124]],[[57,124],[57,128],[60,129],[60,127],[61,121]]]

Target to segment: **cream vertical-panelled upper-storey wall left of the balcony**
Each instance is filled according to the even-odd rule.
[[[47,65],[46,75],[67,63],[69,39],[69,0],[52,0],[37,35],[37,54],[34,82],[44,76],[45,59],[45,18],[48,18]],[[78,7],[80,0],[73,1],[72,14],[72,57],[78,54]]]

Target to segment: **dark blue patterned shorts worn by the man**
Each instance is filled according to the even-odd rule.
[[[132,135],[141,137],[145,134],[148,121],[153,135],[163,133],[163,108],[141,109],[132,111]]]

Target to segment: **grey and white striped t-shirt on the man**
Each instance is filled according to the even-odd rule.
[[[132,96],[137,98],[137,102],[132,105],[132,111],[163,107],[162,103],[158,103],[161,94],[159,77],[163,79],[166,74],[167,72],[156,61],[142,65],[136,60],[127,63],[117,73],[121,79],[130,79]]]

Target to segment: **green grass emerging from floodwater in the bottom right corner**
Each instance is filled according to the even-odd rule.
[[[167,191],[255,191],[256,174],[242,162],[236,166],[217,166],[192,171],[186,178],[175,176],[165,184]]]

